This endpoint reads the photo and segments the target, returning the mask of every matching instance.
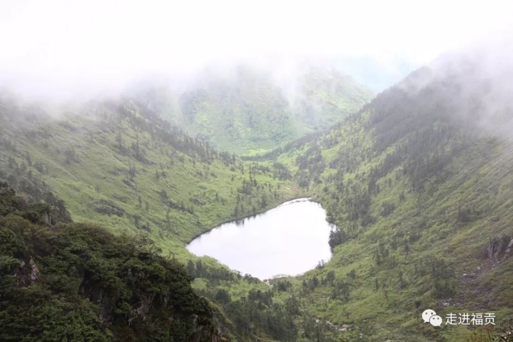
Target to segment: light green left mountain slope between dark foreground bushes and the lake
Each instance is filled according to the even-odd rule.
[[[2,114],[0,170],[10,184],[30,195],[44,183],[74,220],[146,232],[165,250],[295,196],[280,169],[242,164],[135,103],[52,118],[4,102]]]

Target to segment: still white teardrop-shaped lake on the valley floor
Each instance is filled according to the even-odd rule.
[[[260,279],[298,275],[331,257],[328,238],[333,227],[319,203],[300,198],[216,227],[192,240],[187,249]]]

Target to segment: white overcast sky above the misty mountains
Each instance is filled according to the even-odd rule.
[[[419,66],[508,32],[512,2],[22,1],[0,4],[0,81],[117,87],[149,73],[273,58]],[[351,70],[347,70],[351,73]]]

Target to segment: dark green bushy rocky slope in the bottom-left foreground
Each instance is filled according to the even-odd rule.
[[[221,340],[185,267],[149,239],[55,216],[0,183],[0,340]]]

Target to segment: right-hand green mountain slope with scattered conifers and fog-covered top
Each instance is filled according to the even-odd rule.
[[[471,329],[435,329],[422,311],[494,312],[497,325],[513,315],[508,65],[442,58],[280,150],[339,228],[329,263],[290,279],[302,309],[332,324],[326,338],[464,341]]]

